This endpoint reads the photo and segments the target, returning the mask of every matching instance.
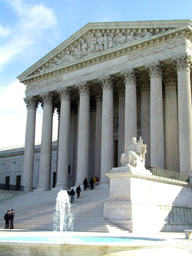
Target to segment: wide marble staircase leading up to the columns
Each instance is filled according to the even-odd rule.
[[[53,214],[55,211],[57,191],[29,192],[0,202],[0,227],[4,228],[3,219],[7,210],[15,210],[15,229],[52,230]],[[74,231],[109,232],[124,229],[103,219],[103,207],[109,198],[109,189],[90,188],[80,194],[79,199],[71,205],[74,215]],[[126,231],[127,232],[127,231]]]

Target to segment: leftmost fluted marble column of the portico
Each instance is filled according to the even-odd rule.
[[[25,134],[25,151],[23,159],[23,186],[25,192],[33,191],[33,165],[35,147],[35,119],[37,109],[37,98],[24,98],[27,106],[27,123]]]

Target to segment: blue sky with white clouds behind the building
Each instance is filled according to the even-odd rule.
[[[86,23],[190,18],[192,0],[0,0],[0,148],[25,143],[25,85],[16,76]],[[41,126],[38,108],[35,141]]]

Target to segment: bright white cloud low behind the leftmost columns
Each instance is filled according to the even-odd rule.
[[[20,145],[25,143],[25,130],[27,120],[27,108],[23,98],[25,97],[25,85],[18,80],[0,86],[0,148]],[[38,106],[39,110],[41,106]],[[41,141],[42,112],[36,113],[35,142]],[[57,114],[53,115],[53,138],[57,138],[58,120]]]

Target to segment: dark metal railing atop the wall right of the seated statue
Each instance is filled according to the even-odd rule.
[[[173,172],[170,170],[165,170],[157,167],[146,167],[146,169],[150,170],[152,175],[155,175],[155,176],[169,178],[173,180],[185,181],[189,183],[189,175],[184,173]]]

